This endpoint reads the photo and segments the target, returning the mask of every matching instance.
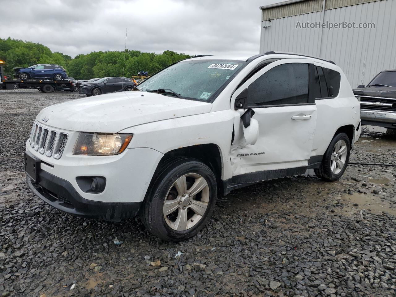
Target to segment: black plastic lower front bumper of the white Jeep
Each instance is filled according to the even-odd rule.
[[[74,187],[66,180],[56,177],[46,171],[39,173],[39,182],[34,183],[27,176],[30,189],[56,209],[78,217],[120,221],[135,217],[141,202],[98,202],[87,200],[80,196]]]

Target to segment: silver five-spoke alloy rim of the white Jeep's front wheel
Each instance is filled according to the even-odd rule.
[[[209,185],[202,175],[188,173],[179,177],[164,202],[166,224],[177,231],[194,227],[206,213],[209,196]]]

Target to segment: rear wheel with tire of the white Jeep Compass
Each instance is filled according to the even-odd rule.
[[[322,164],[314,169],[315,174],[324,181],[337,181],[345,172],[349,161],[350,141],[348,135],[335,135],[327,148]]]

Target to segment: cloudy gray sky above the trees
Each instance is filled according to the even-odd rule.
[[[259,52],[260,6],[277,0],[0,0],[0,38],[74,57],[128,49],[188,54]],[[12,29],[11,29],[12,28]]]

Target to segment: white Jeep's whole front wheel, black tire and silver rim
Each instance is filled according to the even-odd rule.
[[[161,240],[194,236],[209,220],[217,197],[216,178],[204,163],[178,158],[162,166],[143,202],[141,219]]]

